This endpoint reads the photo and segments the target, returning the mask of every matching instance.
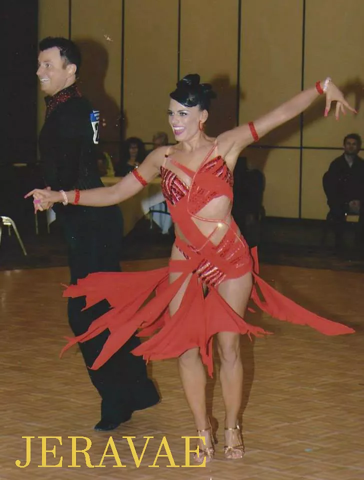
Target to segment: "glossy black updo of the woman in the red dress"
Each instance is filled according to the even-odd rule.
[[[184,106],[198,106],[200,110],[210,107],[216,94],[209,83],[200,83],[197,73],[189,73],[177,82],[177,88],[169,93],[170,98]]]

